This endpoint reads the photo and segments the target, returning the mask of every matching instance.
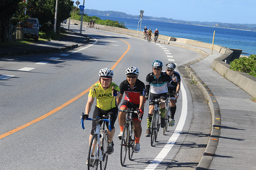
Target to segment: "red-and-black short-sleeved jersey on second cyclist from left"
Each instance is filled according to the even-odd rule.
[[[125,100],[134,104],[140,104],[140,96],[145,96],[145,84],[139,79],[136,80],[134,88],[130,88],[128,80],[120,84],[120,94],[125,93]]]

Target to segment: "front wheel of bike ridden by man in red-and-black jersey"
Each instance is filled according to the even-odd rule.
[[[121,154],[120,154],[120,161],[121,161],[121,165],[124,166],[124,162],[126,159],[126,155],[127,155],[127,142],[128,142],[128,126],[127,124],[124,125],[123,127],[123,135],[122,135],[122,140],[121,140]]]

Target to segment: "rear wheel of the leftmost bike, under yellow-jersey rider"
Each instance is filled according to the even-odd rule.
[[[102,161],[100,161],[100,169],[101,170],[106,170],[107,163],[108,163],[108,134],[107,131],[105,130],[103,132],[103,138],[102,138],[102,147],[101,147],[101,154],[102,154]]]

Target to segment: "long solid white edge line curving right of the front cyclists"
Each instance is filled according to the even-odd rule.
[[[160,151],[160,153],[156,156],[156,158],[145,168],[145,170],[154,170],[157,168],[157,166],[163,161],[163,159],[167,156],[171,148],[174,146],[175,142],[177,141],[178,137],[180,136],[182,129],[184,127],[187,112],[188,112],[188,101],[187,101],[187,93],[183,86],[183,83],[181,82],[181,91],[182,91],[182,109],[181,109],[181,116],[180,120],[178,121],[178,124],[175,128],[175,131],[173,132],[173,135],[171,135],[170,139],[166,143],[166,145],[163,147],[163,149]]]

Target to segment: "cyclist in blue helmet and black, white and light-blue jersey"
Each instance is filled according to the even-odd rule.
[[[149,73],[146,77],[146,99],[149,96],[150,89],[150,97],[149,99],[154,100],[159,98],[160,100],[166,100],[167,98],[167,82],[176,81],[176,79],[172,79],[171,76],[162,72],[163,63],[160,60],[155,60],[152,63],[153,72]],[[145,136],[150,136],[150,125],[153,117],[154,110],[154,102],[149,102],[149,113],[147,117],[147,131]],[[160,116],[161,116],[161,127],[165,126],[164,115],[166,112],[165,103],[160,103]]]

